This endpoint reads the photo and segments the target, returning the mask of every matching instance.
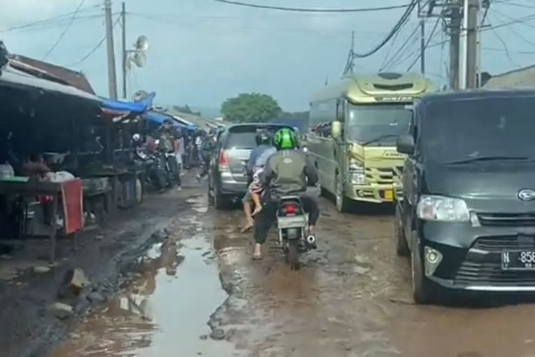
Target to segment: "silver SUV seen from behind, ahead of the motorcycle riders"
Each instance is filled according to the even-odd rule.
[[[281,128],[296,130],[281,124],[235,124],[219,134],[208,170],[208,199],[215,208],[229,206],[247,191],[245,164],[256,147],[257,132],[275,134]]]

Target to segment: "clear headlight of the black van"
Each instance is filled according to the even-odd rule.
[[[460,198],[422,195],[417,216],[425,221],[465,222],[470,220],[467,203]]]

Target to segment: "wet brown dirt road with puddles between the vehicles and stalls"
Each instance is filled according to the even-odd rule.
[[[189,201],[133,286],[50,356],[535,356],[535,304],[412,305],[388,214],[340,215],[322,198],[319,248],[289,271],[273,241],[250,260],[239,211]]]

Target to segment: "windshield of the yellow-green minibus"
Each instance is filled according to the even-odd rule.
[[[411,119],[412,111],[402,104],[350,105],[347,138],[373,141],[370,146],[394,145],[397,135],[407,133]]]

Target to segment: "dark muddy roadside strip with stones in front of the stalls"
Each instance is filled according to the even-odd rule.
[[[147,197],[143,205],[119,212],[103,228],[81,233],[75,253],[70,241],[58,241],[54,265],[47,260],[46,240],[31,240],[23,250],[1,256],[0,355],[45,356],[73,323],[126,283],[138,256],[162,240],[170,218],[188,210],[185,197]],[[66,291],[73,271],[87,279],[78,293]]]

